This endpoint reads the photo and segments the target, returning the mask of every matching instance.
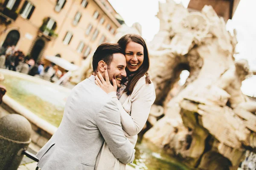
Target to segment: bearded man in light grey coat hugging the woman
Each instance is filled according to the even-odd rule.
[[[104,43],[93,55],[93,71],[126,77],[126,59],[118,44]],[[105,75],[102,75],[105,77]],[[120,81],[116,80],[117,87]],[[67,99],[58,130],[36,155],[42,170],[94,170],[106,141],[124,164],[134,160],[134,148],[125,138],[117,105],[95,84],[92,75],[76,85]],[[107,159],[107,158],[106,158]]]

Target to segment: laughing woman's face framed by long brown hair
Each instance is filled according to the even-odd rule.
[[[128,42],[125,49],[125,58],[129,71],[137,71],[144,60],[144,48],[136,42]]]

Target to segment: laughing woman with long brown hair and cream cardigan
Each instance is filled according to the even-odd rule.
[[[121,87],[109,93],[109,87],[105,83],[107,80],[101,74],[96,75],[95,82],[115,99],[125,136],[135,147],[137,134],[144,127],[156,96],[154,85],[148,75],[149,56],[143,38],[136,34],[126,34],[120,38],[118,44],[124,50],[127,76],[122,79],[113,77],[112,82],[116,84],[116,81],[121,81]],[[105,71],[106,76],[107,74]],[[97,162],[96,170],[125,170],[126,167],[111,153],[106,143],[103,144]]]

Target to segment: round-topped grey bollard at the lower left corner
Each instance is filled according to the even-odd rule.
[[[31,125],[19,114],[0,119],[0,170],[17,170],[23,158],[21,152],[31,142]]]

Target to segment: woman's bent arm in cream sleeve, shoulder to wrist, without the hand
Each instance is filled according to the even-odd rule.
[[[137,135],[144,127],[151,105],[155,100],[155,91],[153,84],[144,84],[137,92],[131,104],[131,116],[122,107],[122,104],[116,98],[116,94],[109,93],[119,108],[121,114],[121,124],[123,130],[130,136]]]

